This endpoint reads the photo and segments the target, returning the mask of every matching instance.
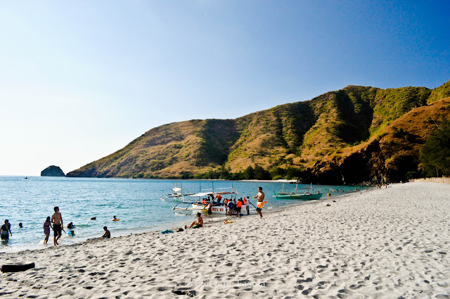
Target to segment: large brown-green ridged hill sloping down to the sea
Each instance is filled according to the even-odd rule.
[[[435,89],[348,86],[235,120],[150,129],[68,177],[278,179],[321,184],[398,182],[442,116],[450,81]]]

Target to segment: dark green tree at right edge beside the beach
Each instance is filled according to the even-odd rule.
[[[420,168],[430,177],[450,175],[450,122],[444,117],[420,151]]]

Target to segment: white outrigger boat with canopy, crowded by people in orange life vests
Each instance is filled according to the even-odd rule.
[[[230,188],[222,188],[222,189],[216,189],[216,190],[223,190],[223,189],[230,189]],[[182,203],[178,203],[174,206],[173,210],[177,211],[207,211],[209,208],[209,205],[211,204],[211,212],[217,213],[217,214],[225,214],[226,207],[221,201],[222,196],[229,195],[230,199],[233,200],[236,199],[236,196],[238,194],[238,190],[236,191],[231,187],[231,191],[209,191],[209,192],[199,192],[195,194],[191,194],[191,197],[197,197],[198,200],[196,201],[183,201]],[[211,198],[214,198],[211,201]],[[203,198],[203,199],[201,199]],[[250,203],[251,204],[251,203]],[[241,211],[244,212],[246,210],[246,205],[242,205]],[[255,208],[251,208],[251,210],[255,210]]]

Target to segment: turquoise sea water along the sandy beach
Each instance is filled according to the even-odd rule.
[[[0,252],[44,248],[43,225],[47,216],[58,205],[63,215],[65,231],[67,224],[75,224],[75,236],[63,233],[60,245],[85,241],[103,234],[103,227],[112,236],[143,231],[184,227],[195,220],[194,212],[179,212],[172,208],[176,201],[160,201],[160,196],[170,193],[174,183],[188,192],[199,189],[219,189],[233,186],[238,197],[255,196],[262,186],[269,202],[264,210],[283,208],[299,201],[282,201],[274,198],[274,191],[283,186],[278,182],[231,182],[231,181],[174,181],[158,179],[81,179],[66,177],[0,177],[0,222],[8,219],[13,235],[8,243],[2,242]],[[293,185],[285,184],[293,188]],[[299,186],[300,187],[300,186]],[[350,186],[315,186],[316,191],[333,189],[333,196],[348,193]],[[328,190],[326,191],[328,192]],[[326,197],[326,196],[324,196]],[[300,202],[304,203],[304,202]],[[112,222],[113,216],[120,219]],[[90,220],[96,217],[96,220]],[[211,217],[222,217],[212,215]],[[19,222],[23,228],[18,227]],[[53,231],[49,245],[53,245]]]

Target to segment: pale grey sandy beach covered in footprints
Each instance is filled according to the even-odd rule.
[[[397,184],[232,221],[3,253],[2,264],[37,267],[0,274],[0,297],[450,298],[449,185]]]

